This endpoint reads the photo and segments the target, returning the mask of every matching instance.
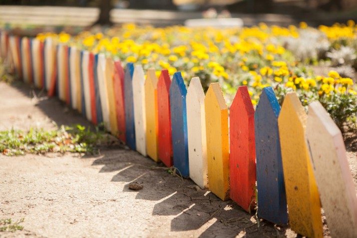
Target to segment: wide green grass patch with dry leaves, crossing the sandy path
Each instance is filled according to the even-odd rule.
[[[97,153],[96,145],[103,141],[104,132],[95,132],[81,125],[61,126],[56,130],[30,128],[0,132],[0,152],[7,156],[46,154],[48,152]]]

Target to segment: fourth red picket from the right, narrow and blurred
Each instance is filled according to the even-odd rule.
[[[89,52],[88,67],[88,81],[89,81],[89,100],[90,100],[90,113],[91,121],[94,125],[97,125],[97,109],[95,100],[95,83],[94,83],[94,54]]]

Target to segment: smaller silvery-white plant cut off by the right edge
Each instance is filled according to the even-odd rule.
[[[331,59],[331,66],[340,65],[354,65],[356,56],[356,50],[349,46],[341,46],[340,49],[331,49],[331,52],[327,52],[326,56]]]

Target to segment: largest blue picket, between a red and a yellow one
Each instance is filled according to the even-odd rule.
[[[272,87],[263,88],[254,114],[257,157],[258,217],[275,224],[287,224],[278,116],[280,105]]]

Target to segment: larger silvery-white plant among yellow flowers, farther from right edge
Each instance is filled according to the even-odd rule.
[[[300,37],[287,37],[285,48],[290,50],[300,60],[321,59],[326,56],[330,43],[326,34],[313,29],[299,32]]]

